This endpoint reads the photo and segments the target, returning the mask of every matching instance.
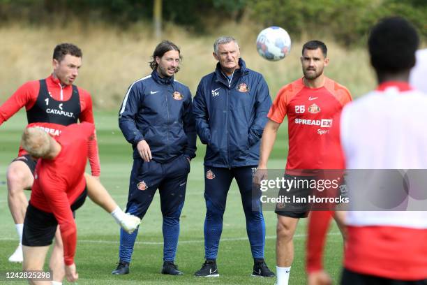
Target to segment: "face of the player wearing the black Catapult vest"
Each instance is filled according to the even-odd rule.
[[[82,58],[66,54],[61,61],[53,59],[54,76],[64,85],[72,85],[79,75],[79,68],[82,66]]]

